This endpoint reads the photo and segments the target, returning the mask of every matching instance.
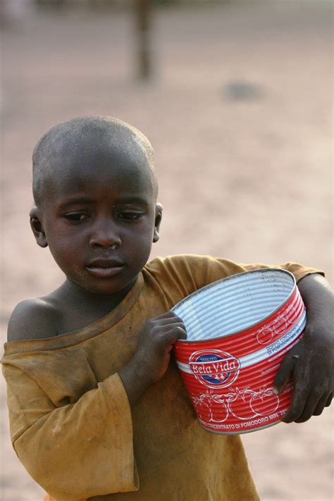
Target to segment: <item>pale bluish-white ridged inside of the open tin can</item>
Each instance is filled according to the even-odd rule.
[[[173,307],[187,342],[245,330],[271,316],[292,295],[295,277],[276,268],[238,273],[194,292]]]

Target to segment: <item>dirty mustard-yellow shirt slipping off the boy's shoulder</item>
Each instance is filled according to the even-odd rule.
[[[57,501],[258,500],[240,437],[199,426],[174,361],[132,409],[118,371],[148,318],[214,280],[261,267],[157,258],[101,320],[53,338],[7,342],[11,440],[32,478]],[[282,267],[297,280],[316,272]]]

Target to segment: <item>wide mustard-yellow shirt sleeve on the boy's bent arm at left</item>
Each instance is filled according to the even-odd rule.
[[[117,373],[78,402],[55,407],[37,381],[3,364],[13,447],[49,495],[82,501],[138,490],[130,405]]]

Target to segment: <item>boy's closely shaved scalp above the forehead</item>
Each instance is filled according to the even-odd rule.
[[[46,185],[57,175],[71,169],[94,168],[93,158],[117,168],[140,165],[147,171],[156,198],[158,183],[154,169],[154,151],[140,130],[108,116],[82,116],[51,128],[37,142],[32,154],[32,191],[35,204],[42,205]],[[129,160],[130,159],[130,160]],[[117,165],[116,165],[117,164]]]

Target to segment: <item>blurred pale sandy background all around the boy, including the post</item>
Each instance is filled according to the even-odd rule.
[[[297,261],[333,284],[332,10],[322,0],[1,0],[3,342],[13,307],[63,280],[29,227],[32,149],[84,114],[125,120],[154,146],[164,216],[152,257]],[[42,500],[11,449],[2,378],[0,389],[1,500]],[[262,500],[333,499],[332,426],[326,409],[243,435]]]

